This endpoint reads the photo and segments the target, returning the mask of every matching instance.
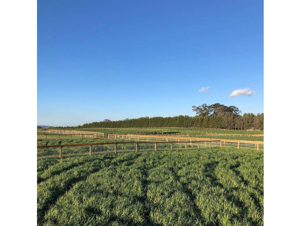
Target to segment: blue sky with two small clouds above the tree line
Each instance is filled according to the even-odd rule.
[[[38,125],[262,113],[263,1],[39,0],[37,74]]]

